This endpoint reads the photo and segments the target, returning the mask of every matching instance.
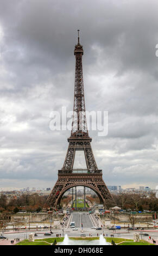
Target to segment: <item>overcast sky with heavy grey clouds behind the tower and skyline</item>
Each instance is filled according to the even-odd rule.
[[[0,187],[52,187],[69,131],[50,113],[73,109],[74,45],[84,46],[86,109],[109,112],[90,131],[106,185],[158,184],[158,2],[0,0]]]

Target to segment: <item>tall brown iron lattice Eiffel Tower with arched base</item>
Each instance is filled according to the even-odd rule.
[[[75,83],[74,83],[74,107],[71,136],[68,140],[68,149],[65,162],[61,170],[58,170],[58,180],[53,187],[52,192],[47,198],[46,205],[57,209],[63,194],[76,186],[91,188],[97,193],[100,203],[107,206],[106,203],[113,201],[113,198],[106,187],[102,170],[98,169],[91,148],[92,138],[89,137],[85,115],[85,97],[83,82],[82,56],[84,54],[83,46],[80,44],[78,30],[78,44],[74,48],[75,56]],[[84,151],[86,160],[86,169],[73,169],[75,151]]]

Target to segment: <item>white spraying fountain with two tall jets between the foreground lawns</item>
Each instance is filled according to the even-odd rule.
[[[99,236],[99,240],[73,240],[69,239],[67,234],[65,234],[64,241],[58,243],[58,245],[110,245],[110,243],[106,242],[102,234]]]

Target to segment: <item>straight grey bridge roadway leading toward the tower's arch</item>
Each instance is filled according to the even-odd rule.
[[[87,212],[73,212],[72,221],[75,222],[75,228],[81,228],[81,223],[83,223],[83,228],[91,228],[93,227],[93,223],[90,219],[90,216]]]

